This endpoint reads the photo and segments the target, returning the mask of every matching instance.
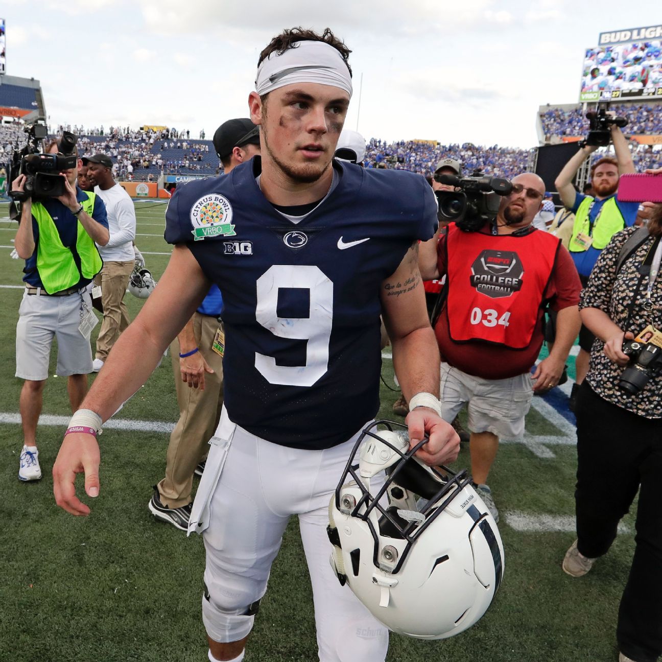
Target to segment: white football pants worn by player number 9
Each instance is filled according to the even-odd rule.
[[[223,409],[210,442],[207,485],[201,481],[191,516],[192,522],[209,522],[197,526],[207,526],[203,622],[214,641],[237,641],[250,632],[254,616],[246,610],[265,593],[283,532],[296,514],[320,662],[383,662],[387,628],[347,585],[340,586],[329,563],[328,504],[359,434],[321,451],[286,448],[236,426]]]

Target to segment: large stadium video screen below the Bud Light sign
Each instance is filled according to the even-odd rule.
[[[662,99],[662,41],[587,48],[579,101]]]

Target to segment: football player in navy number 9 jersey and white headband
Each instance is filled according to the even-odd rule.
[[[189,532],[207,552],[209,659],[239,662],[287,521],[299,516],[323,662],[379,662],[387,628],[328,563],[328,502],[379,409],[379,314],[393,344],[412,445],[430,465],[457,457],[440,418],[440,359],[418,271],[436,202],[420,175],[333,160],[352,95],[350,51],[330,30],[285,30],[261,52],[249,97],[261,159],[177,190],[175,248],[158,287],[71,419],[54,467],[75,515],[85,473],[99,495],[103,420],[150,375],[212,283],[222,292],[225,401]],[[342,415],[338,415],[342,412]],[[375,479],[377,480],[377,479]],[[378,483],[378,481],[377,481]]]

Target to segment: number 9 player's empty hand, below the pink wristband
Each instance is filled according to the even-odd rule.
[[[92,434],[68,434],[53,465],[55,502],[72,515],[89,515],[89,507],[76,496],[77,473],[85,472],[87,496],[99,495],[99,444]]]

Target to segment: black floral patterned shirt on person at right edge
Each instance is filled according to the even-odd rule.
[[[653,324],[655,328],[662,330],[662,273],[655,279],[651,292],[652,310],[645,310],[643,307],[648,285],[647,275],[643,277],[636,291],[639,282],[638,269],[653,246],[653,237],[639,246],[638,250],[622,264],[618,274],[616,273],[621,248],[637,229],[626,228],[614,234],[593,267],[589,284],[582,292],[579,304],[580,310],[582,308],[604,310],[614,324],[624,331],[632,331],[635,336],[648,324]],[[635,293],[636,301],[628,322],[628,309]],[[624,368],[607,358],[604,354],[604,343],[596,338],[591,350],[591,367],[587,375],[593,391],[602,399],[638,416],[662,418],[662,374],[653,377],[639,393],[630,395],[618,388],[618,380],[623,371]]]

